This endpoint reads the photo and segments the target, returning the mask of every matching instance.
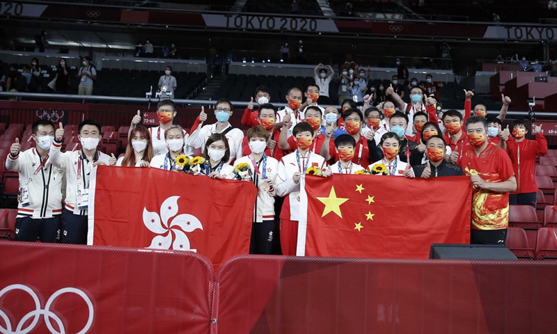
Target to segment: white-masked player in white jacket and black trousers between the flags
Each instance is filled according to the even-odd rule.
[[[265,106],[265,104],[263,104]],[[264,111],[265,109],[261,109]],[[250,154],[237,159],[234,167],[248,166],[250,174],[242,180],[257,187],[255,212],[251,227],[250,254],[272,254],[274,233],[274,196],[278,160],[267,155],[267,129],[258,125],[247,132]]]

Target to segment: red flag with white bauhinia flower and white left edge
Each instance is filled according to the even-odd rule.
[[[191,250],[215,267],[249,253],[257,189],[157,168],[91,171],[88,244]]]

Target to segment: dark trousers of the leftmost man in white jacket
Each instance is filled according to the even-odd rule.
[[[59,242],[62,216],[52,218],[15,218],[15,241]]]

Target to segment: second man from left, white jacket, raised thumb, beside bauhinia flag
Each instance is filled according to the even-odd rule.
[[[77,127],[81,150],[60,152],[64,128],[60,123],[50,148],[52,166],[65,171],[65,207],[63,210],[61,241],[64,244],[86,244],[88,230],[89,177],[98,165],[114,166],[116,157],[97,150],[100,141],[100,123],[84,120]]]

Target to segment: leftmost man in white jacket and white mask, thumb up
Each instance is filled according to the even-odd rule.
[[[15,241],[58,242],[62,225],[64,171],[49,161],[54,124],[37,120],[31,137],[36,148],[21,152],[19,139],[10,146],[6,169],[19,173]]]

